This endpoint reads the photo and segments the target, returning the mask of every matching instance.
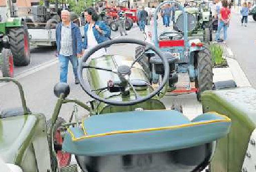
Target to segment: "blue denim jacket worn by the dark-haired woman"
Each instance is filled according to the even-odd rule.
[[[103,30],[103,33],[99,33],[97,29],[95,29],[95,25],[98,25],[101,30]],[[89,28],[89,24],[84,25],[84,49],[87,49],[87,31]],[[93,35],[97,41],[98,44],[108,40],[110,38],[110,28],[106,26],[104,22],[96,21],[94,26],[92,27]]]

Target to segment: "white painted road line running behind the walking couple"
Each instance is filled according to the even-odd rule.
[[[138,30],[138,28],[131,29],[130,31],[127,31],[127,33],[131,33],[131,32],[134,32],[136,30]],[[120,35],[113,36],[113,37],[111,37],[111,39],[118,38],[118,37],[120,37]],[[43,70],[43,69],[45,69],[47,67],[55,65],[56,63],[58,63],[58,58],[55,58],[55,59],[53,59],[51,61],[47,61],[45,63],[42,63],[42,64],[40,64],[38,66],[32,67],[32,68],[28,69],[27,71],[18,74],[17,76],[14,77],[14,79],[18,80],[18,79],[24,78],[24,77],[26,77],[28,75],[34,74],[34,73],[36,73],[38,71],[41,71],[41,70]],[[0,83],[0,87],[4,86],[6,84],[7,83]]]

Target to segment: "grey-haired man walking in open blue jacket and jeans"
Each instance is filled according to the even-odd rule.
[[[79,84],[77,76],[78,59],[83,55],[82,37],[79,27],[70,21],[67,10],[61,12],[61,20],[56,27],[57,52],[60,63],[60,82],[67,83],[68,63],[71,62],[75,76],[75,84]]]

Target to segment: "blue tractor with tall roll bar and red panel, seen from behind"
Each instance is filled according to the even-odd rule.
[[[165,58],[170,62],[170,74],[169,74],[169,88],[166,89],[171,92],[196,92],[197,99],[200,100],[200,95],[205,90],[211,90],[213,85],[213,73],[212,73],[212,59],[210,52],[206,45],[199,39],[188,40],[188,28],[191,25],[187,22],[189,17],[187,13],[178,4],[180,10],[183,12],[182,33],[178,31],[164,31],[158,36],[156,14],[161,6],[167,3],[175,3],[173,1],[166,1],[161,3],[155,13],[154,18],[154,30],[151,43],[159,48],[164,54]],[[147,33],[146,33],[147,34]],[[139,46],[136,50],[136,57],[142,59],[141,65],[144,67],[151,78],[151,83],[157,84],[161,82],[164,73],[162,61],[157,55],[146,51],[145,47]],[[175,64],[173,63],[175,62]],[[181,88],[177,88],[175,84],[178,82],[178,75],[188,74],[188,80],[186,85],[183,84]],[[181,79],[181,78],[180,78]]]

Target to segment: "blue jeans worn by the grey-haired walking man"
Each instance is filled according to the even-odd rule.
[[[78,79],[77,76],[77,68],[78,68],[78,59],[76,56],[63,56],[59,55],[60,62],[60,82],[67,83],[67,75],[68,75],[68,62],[71,62],[73,66],[73,72],[75,79]]]

